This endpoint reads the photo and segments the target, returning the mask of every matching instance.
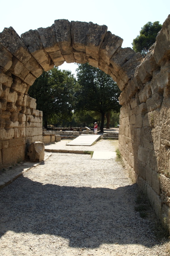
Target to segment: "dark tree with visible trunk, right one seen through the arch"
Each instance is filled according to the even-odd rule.
[[[101,114],[100,130],[103,132],[105,113],[120,111],[120,89],[112,77],[88,63],[78,64],[79,86],[75,93],[75,110],[96,111]]]

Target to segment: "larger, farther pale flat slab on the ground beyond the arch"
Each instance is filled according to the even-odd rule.
[[[79,137],[67,143],[67,146],[91,146],[101,135],[81,134]]]

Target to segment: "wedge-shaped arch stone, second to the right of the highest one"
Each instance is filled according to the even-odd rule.
[[[92,22],[88,23],[87,36],[86,36],[86,55],[96,59],[99,54],[100,46],[104,40],[107,32],[107,26],[94,24]]]

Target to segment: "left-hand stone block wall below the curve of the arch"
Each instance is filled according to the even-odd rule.
[[[12,101],[14,95],[17,96],[16,104],[3,102],[1,96],[0,169],[23,161],[27,156],[27,145],[43,140],[43,112],[36,110],[35,99],[24,95],[21,88],[17,89],[19,93],[13,89],[11,99],[8,99]]]

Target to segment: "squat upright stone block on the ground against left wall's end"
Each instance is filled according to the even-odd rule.
[[[31,162],[40,162],[44,160],[45,146],[43,142],[36,141],[29,145],[27,155]]]

